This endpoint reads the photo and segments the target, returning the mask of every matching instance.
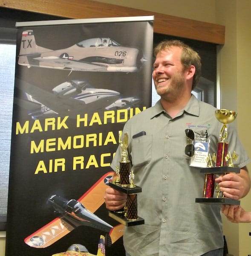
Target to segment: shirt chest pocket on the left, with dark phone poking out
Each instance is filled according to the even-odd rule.
[[[132,140],[132,163],[133,166],[141,166],[150,162],[152,157],[151,135],[144,135]]]

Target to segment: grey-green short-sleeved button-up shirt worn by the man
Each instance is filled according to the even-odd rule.
[[[210,153],[216,153],[222,123],[215,110],[192,95],[174,118],[157,102],[125,124],[134,183],[142,187],[138,215],[145,220],[143,225],[125,228],[124,247],[132,256],[199,256],[223,247],[220,206],[195,203],[203,195],[205,175],[189,166],[185,155],[188,127],[199,134],[207,131]],[[146,135],[132,139],[141,131]],[[235,166],[249,163],[232,124],[226,141],[228,151],[239,155]],[[114,170],[121,160],[120,150],[111,164]]]

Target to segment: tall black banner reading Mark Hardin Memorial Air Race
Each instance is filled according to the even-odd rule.
[[[151,104],[153,16],[17,27],[6,255],[124,255],[104,191],[119,132]]]

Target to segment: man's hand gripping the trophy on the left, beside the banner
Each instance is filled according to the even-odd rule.
[[[124,207],[124,203],[127,201],[127,194],[109,187],[105,191],[104,201],[108,210],[116,211]]]

